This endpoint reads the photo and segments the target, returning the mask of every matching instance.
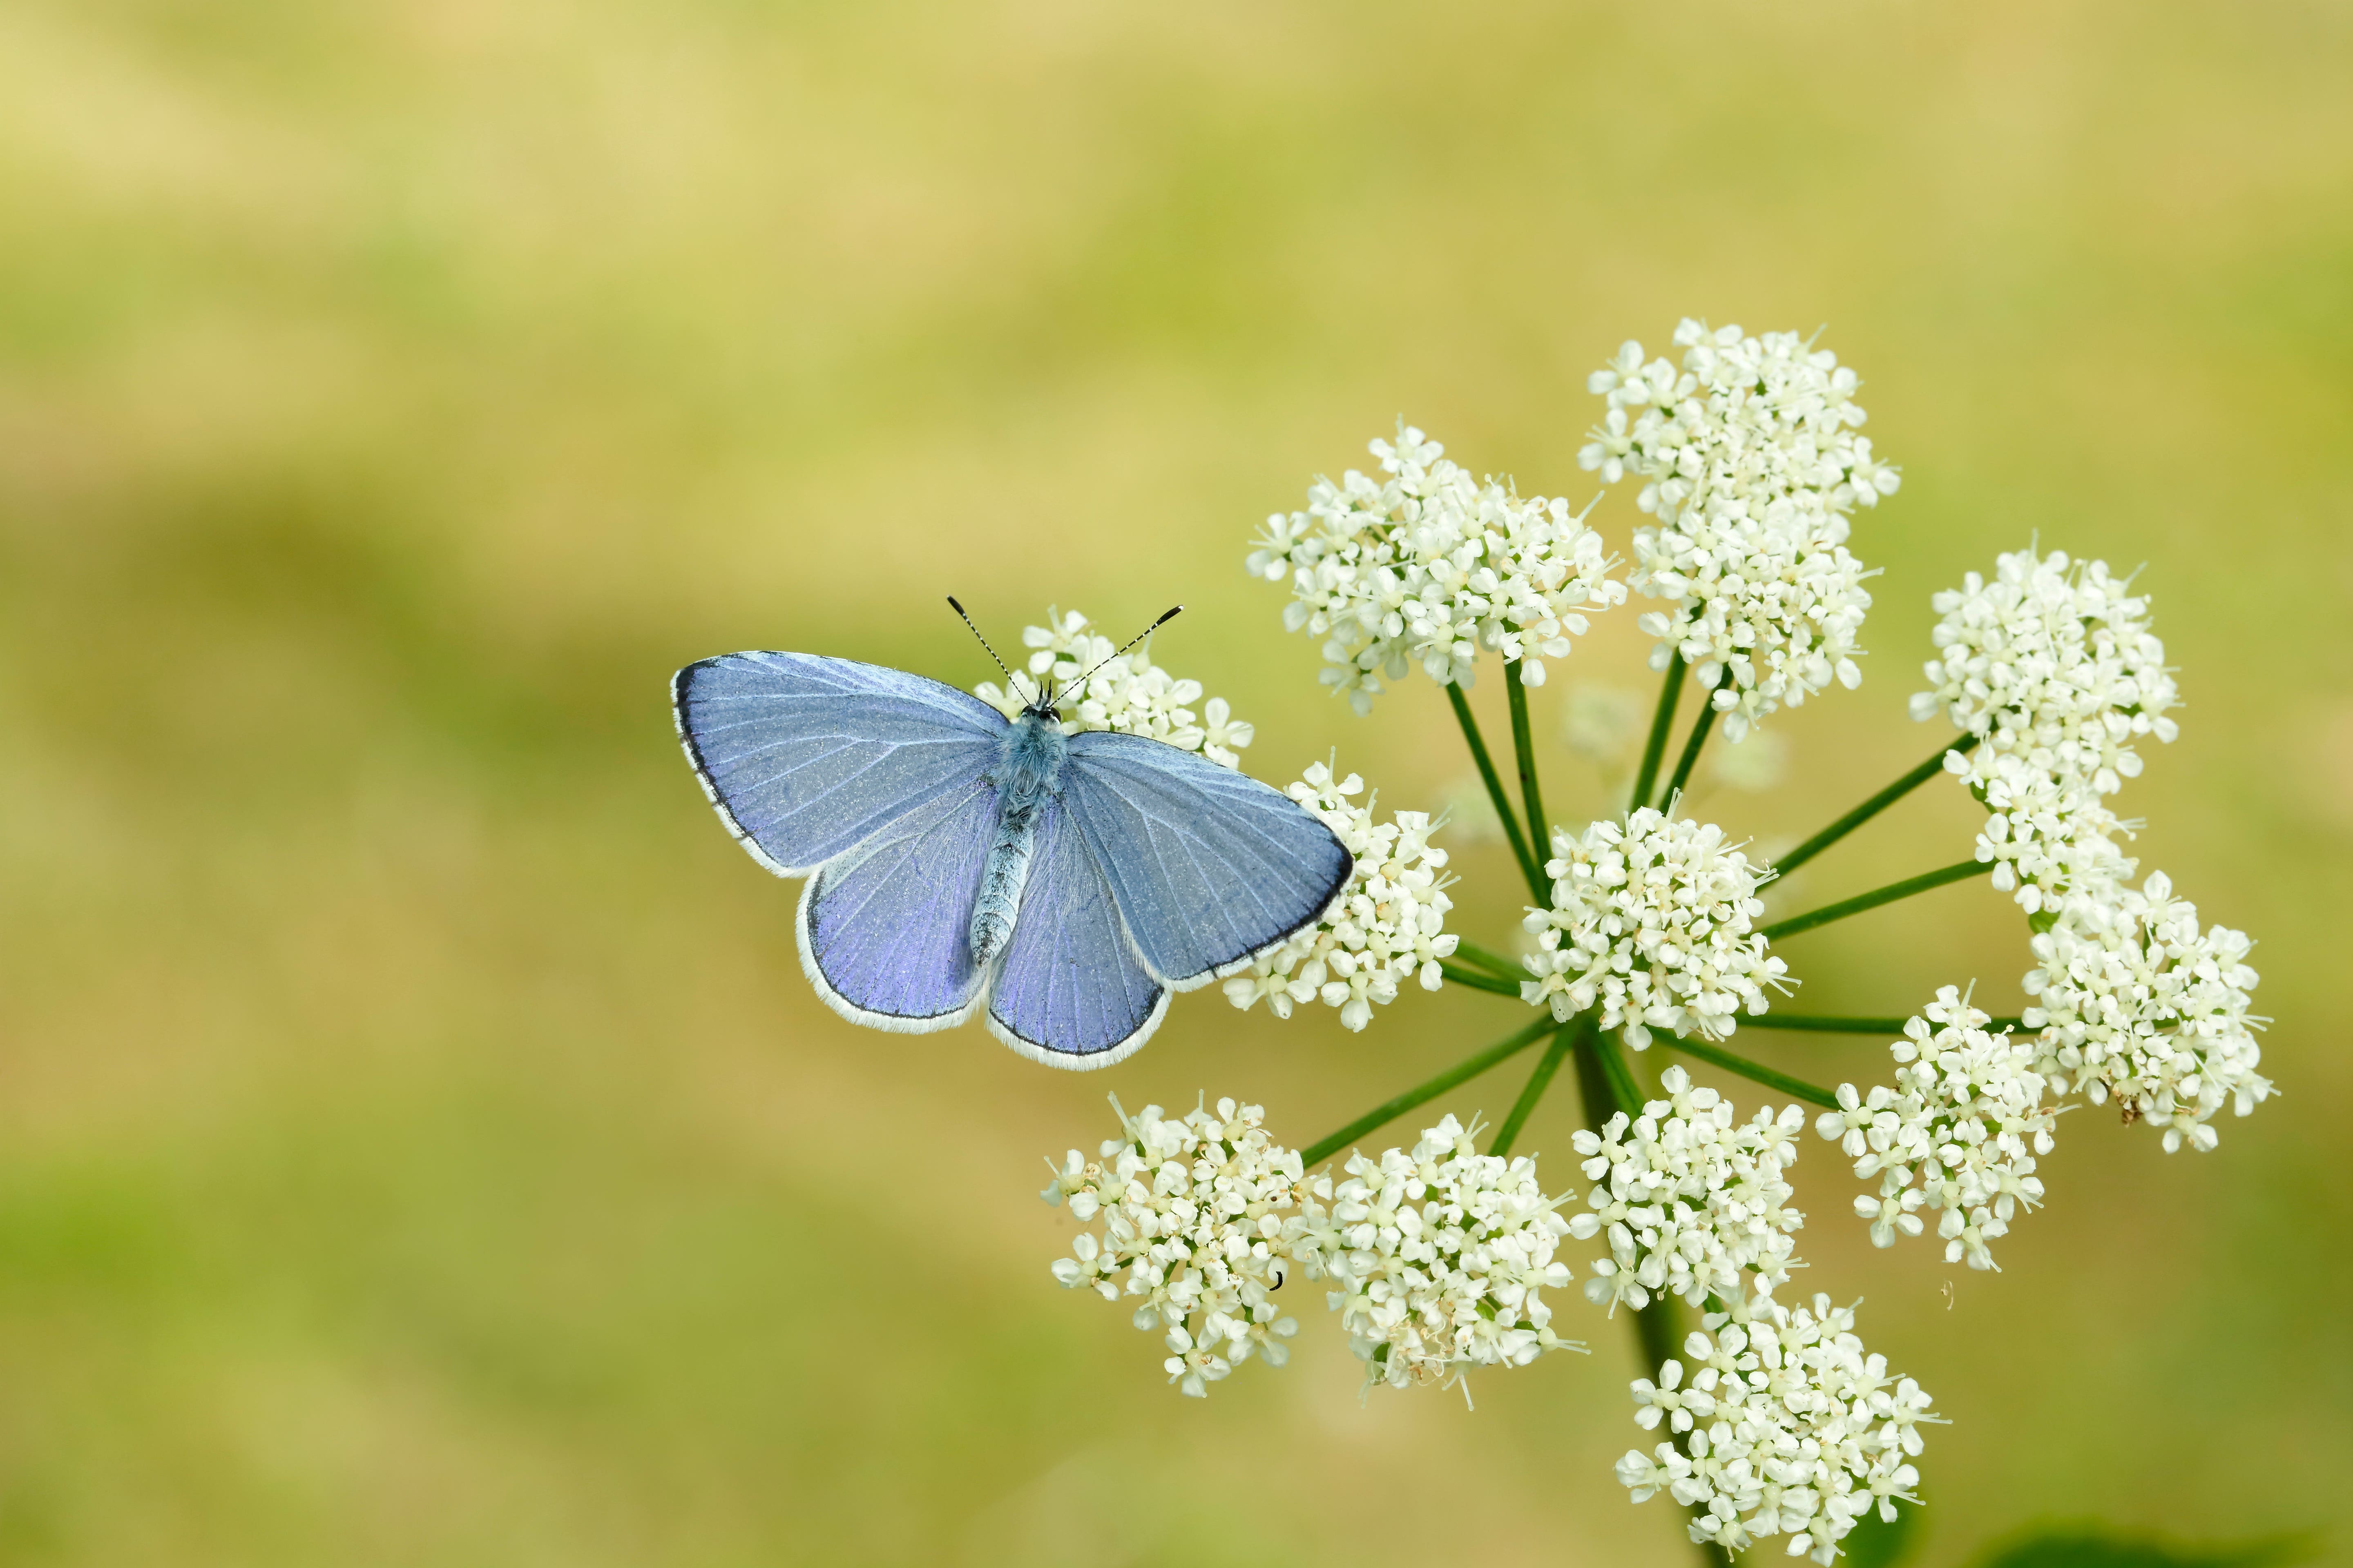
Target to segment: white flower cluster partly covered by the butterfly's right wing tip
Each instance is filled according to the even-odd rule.
[[[1421,811],[1377,823],[1369,802],[1351,799],[1362,788],[1355,773],[1334,780],[1322,762],[1289,788],[1348,846],[1355,872],[1322,919],[1226,980],[1233,1006],[1264,999],[1275,1018],[1289,1018],[1294,1004],[1322,1001],[1339,1009],[1344,1027],[1362,1030],[1405,980],[1440,987],[1438,959],[1452,957],[1461,938],[1445,929],[1454,877],[1445,872],[1447,851],[1431,844],[1438,823]]]

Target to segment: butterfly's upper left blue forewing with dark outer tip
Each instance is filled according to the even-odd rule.
[[[805,877],[976,780],[1005,715],[904,670],[814,654],[727,654],[675,675],[687,762],[753,860]]]

